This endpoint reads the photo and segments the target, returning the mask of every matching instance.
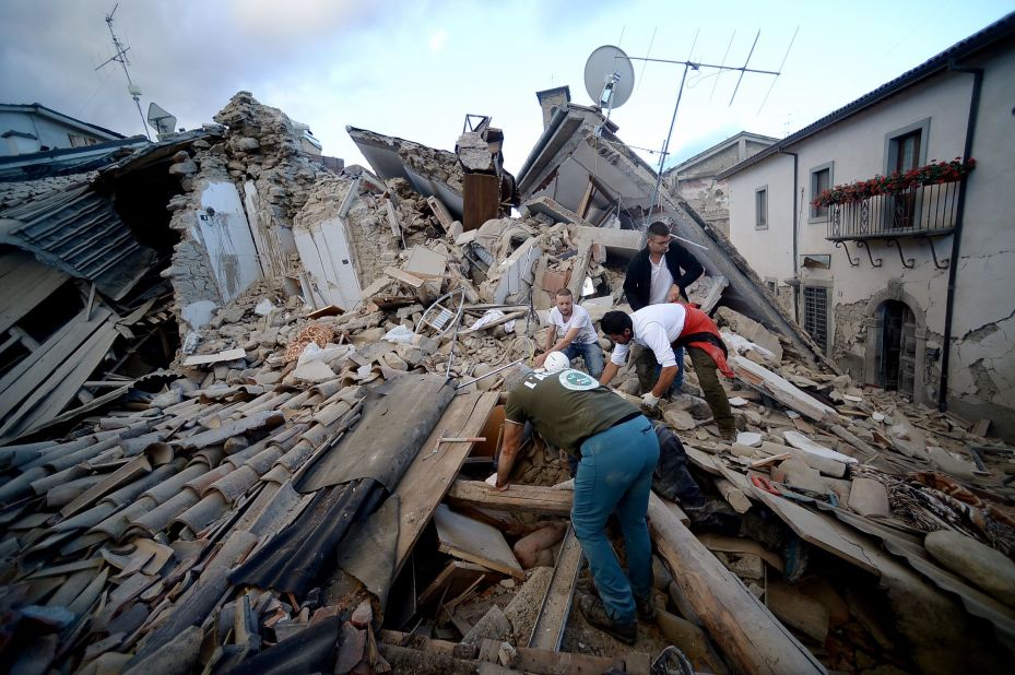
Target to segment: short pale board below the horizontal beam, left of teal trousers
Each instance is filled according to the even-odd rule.
[[[481,523],[468,516],[456,513],[446,505],[434,511],[437,525],[437,548],[441,553],[488,567],[516,579],[524,579],[526,570],[508,546],[507,540],[496,528]]]

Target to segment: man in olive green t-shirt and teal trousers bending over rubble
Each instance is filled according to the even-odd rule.
[[[579,607],[591,624],[633,644],[638,614],[654,614],[652,550],[645,522],[659,460],[652,425],[585,372],[531,372],[511,389],[505,406],[498,489],[509,487],[526,423],[548,442],[581,458],[571,523],[602,602],[585,597]],[[614,511],[624,534],[629,581],[606,538],[606,519]]]

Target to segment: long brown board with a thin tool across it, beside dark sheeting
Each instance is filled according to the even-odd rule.
[[[461,470],[473,443],[444,443],[440,452],[430,459],[425,458],[437,447],[437,440],[444,433],[453,436],[479,435],[491,411],[497,405],[497,398],[496,392],[474,392],[456,396],[429,438],[421,446],[423,450],[405,470],[405,475],[394,489],[401,523],[396,575],[409,559],[409,554]]]

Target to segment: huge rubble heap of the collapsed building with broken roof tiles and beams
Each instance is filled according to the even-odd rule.
[[[215,125],[0,214],[22,237],[12,280],[22,265],[55,274],[43,265],[97,288],[75,286],[87,313],[55,334],[102,316],[133,346],[156,307],[178,327],[155,375],[107,366],[118,386],[73,403],[87,362],[57,388],[70,398],[4,436],[4,666],[1010,670],[1013,449],[855,387],[720,232],[665,191],[653,205],[654,173],[598,110],[557,102],[545,119],[517,179],[488,118],[467,119],[455,153],[350,128],[373,170],[335,171],[298,125],[239,93]],[[67,217],[82,194],[103,218]],[[722,325],[741,433],[721,441],[694,395],[663,405],[733,526],[698,531],[653,495],[660,618],[627,648],[570,612],[590,579],[562,453],[535,437],[509,490],[482,478],[504,367],[532,358],[556,289],[597,320],[624,306],[648,218],[707,270],[688,291]],[[101,223],[128,230],[162,291],[106,285],[28,239],[47,223],[71,241]],[[137,280],[127,260],[104,262]],[[96,340],[87,354],[106,363]],[[43,356],[24,363],[47,372]],[[27,377],[19,367],[5,382]],[[17,410],[40,410],[28,403]]]

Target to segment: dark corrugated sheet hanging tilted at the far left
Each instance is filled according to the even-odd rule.
[[[35,253],[107,297],[122,298],[155,261],[90,186],[57,192],[0,213],[0,242]]]

